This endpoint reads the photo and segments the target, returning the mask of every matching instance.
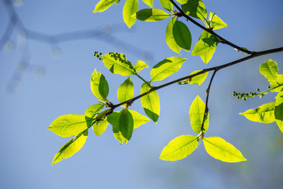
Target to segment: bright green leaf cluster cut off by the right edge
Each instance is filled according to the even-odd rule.
[[[248,120],[253,122],[270,123],[276,122],[279,129],[283,132],[283,74],[278,74],[278,67],[275,61],[268,59],[265,63],[260,65],[260,74],[270,83],[267,91],[260,91],[254,96],[264,96],[268,92],[277,93],[276,101],[265,103],[258,108],[246,110],[244,115]]]

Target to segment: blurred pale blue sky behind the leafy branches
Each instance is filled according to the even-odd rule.
[[[0,1],[0,36],[8,25],[3,1]],[[23,38],[20,31],[13,31],[9,44],[14,47],[9,50],[6,45],[0,52],[0,188],[278,188],[283,184],[283,134],[275,124],[250,122],[238,115],[274,101],[274,95],[246,102],[232,96],[233,91],[265,90],[267,81],[260,75],[259,66],[266,59],[274,59],[282,74],[282,53],[258,57],[219,71],[212,84],[207,136],[219,136],[231,142],[242,151],[248,159],[246,162],[218,161],[206,153],[203,145],[180,161],[158,159],[171,139],[181,134],[195,134],[189,125],[189,107],[197,94],[204,99],[207,80],[202,86],[176,84],[158,91],[161,115],[157,125],[149,122],[134,130],[127,145],[120,146],[112,136],[111,127],[100,137],[90,130],[81,151],[51,167],[54,154],[68,139],[53,134],[46,127],[59,115],[83,114],[88,106],[96,103],[90,88],[95,68],[108,80],[110,101],[117,103],[116,91],[125,78],[110,73],[93,57],[93,52],[121,52],[134,64],[141,59],[150,67],[166,57],[179,56],[165,42],[169,19],[158,23],[137,21],[128,30],[122,21],[124,1],[103,13],[93,14],[97,2],[25,0],[23,6],[15,6],[25,28],[30,30],[49,35],[103,30],[124,43],[105,35],[57,45],[28,40],[30,60],[28,67],[23,69],[18,66],[25,52],[21,45]],[[283,45],[281,0],[204,0],[204,4],[208,11],[216,13],[229,25],[217,33],[237,45],[255,51]],[[146,8],[142,1],[139,5],[139,9]],[[161,7],[156,0],[154,7]],[[193,47],[202,30],[183,18],[180,20],[190,28]],[[59,56],[54,58],[56,54]],[[207,66],[200,57],[187,52],[181,52],[180,56],[187,61],[178,74],[164,82],[244,55],[219,45]],[[18,81],[19,75],[14,75],[16,70],[22,70],[23,74],[12,92],[7,86],[14,79]],[[149,69],[141,74],[149,79]],[[138,95],[141,81],[132,79],[134,93]],[[136,101],[132,109],[144,113],[140,101]]]

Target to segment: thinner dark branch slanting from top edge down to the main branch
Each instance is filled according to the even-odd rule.
[[[229,45],[231,47],[234,47],[236,50],[241,51],[241,52],[245,52],[248,55],[252,55],[254,52],[250,51],[250,50],[246,50],[242,47],[239,47],[238,45],[233,44],[232,42],[229,42],[229,40],[226,40],[224,38],[222,38],[220,35],[218,35],[217,33],[214,32],[214,30],[209,29],[209,28],[205,28],[203,25],[201,25],[200,23],[198,23],[197,21],[195,21],[194,19],[192,19],[190,16],[187,16],[184,11],[182,10],[182,8],[180,8],[180,6],[178,6],[178,4],[176,4],[173,0],[170,0],[171,3],[175,6],[175,8],[178,9],[178,11],[180,11],[180,15],[184,16],[185,18],[187,18],[188,21],[194,23],[195,25],[197,25],[199,28],[202,28],[203,30],[206,30],[208,33],[211,33],[212,35],[215,35],[217,38],[219,38],[221,43],[224,43],[226,45]]]

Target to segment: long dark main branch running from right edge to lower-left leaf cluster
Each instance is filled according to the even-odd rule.
[[[283,47],[279,47],[279,48],[276,48],[276,49],[272,49],[272,50],[264,50],[264,51],[260,51],[260,52],[254,52],[253,55],[249,55],[248,57],[244,57],[244,58],[241,58],[241,59],[237,59],[233,62],[229,62],[227,64],[222,64],[220,66],[217,66],[217,67],[211,67],[211,68],[208,68],[208,69],[202,69],[202,71],[199,71],[197,72],[196,74],[192,74],[190,76],[184,76],[180,79],[176,79],[174,81],[170,81],[166,84],[163,84],[163,85],[160,85],[160,86],[154,86],[152,87],[149,91],[147,91],[146,93],[142,93],[140,94],[139,96],[135,96],[134,98],[132,99],[129,99],[128,101],[125,101],[125,102],[122,102],[122,103],[117,103],[115,105],[112,105],[111,108],[112,110],[114,110],[115,108],[119,107],[120,105],[124,105],[124,104],[129,104],[129,103],[133,103],[134,101],[136,101],[137,99],[143,97],[143,96],[146,96],[147,94],[153,92],[153,91],[157,91],[158,89],[160,88],[164,88],[166,86],[169,86],[171,84],[175,84],[175,83],[178,83],[179,81],[183,81],[185,79],[192,79],[194,76],[198,76],[200,74],[204,74],[205,72],[207,71],[218,71],[219,69],[224,69],[226,67],[231,67],[233,66],[234,64],[238,64],[240,62],[243,62],[243,61],[246,61],[248,59],[252,59],[254,57],[259,57],[259,56],[262,56],[262,55],[268,55],[268,54],[272,54],[272,53],[275,53],[275,52],[282,52],[283,51]]]

